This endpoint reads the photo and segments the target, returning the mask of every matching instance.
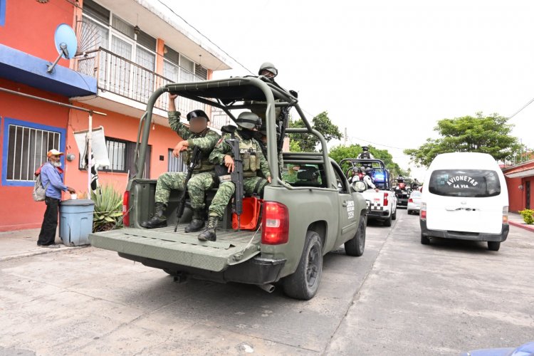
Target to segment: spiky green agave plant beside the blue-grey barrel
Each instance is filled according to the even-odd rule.
[[[93,214],[93,232],[108,231],[122,227],[122,195],[113,187],[104,186],[95,194],[91,192],[95,202]]]

